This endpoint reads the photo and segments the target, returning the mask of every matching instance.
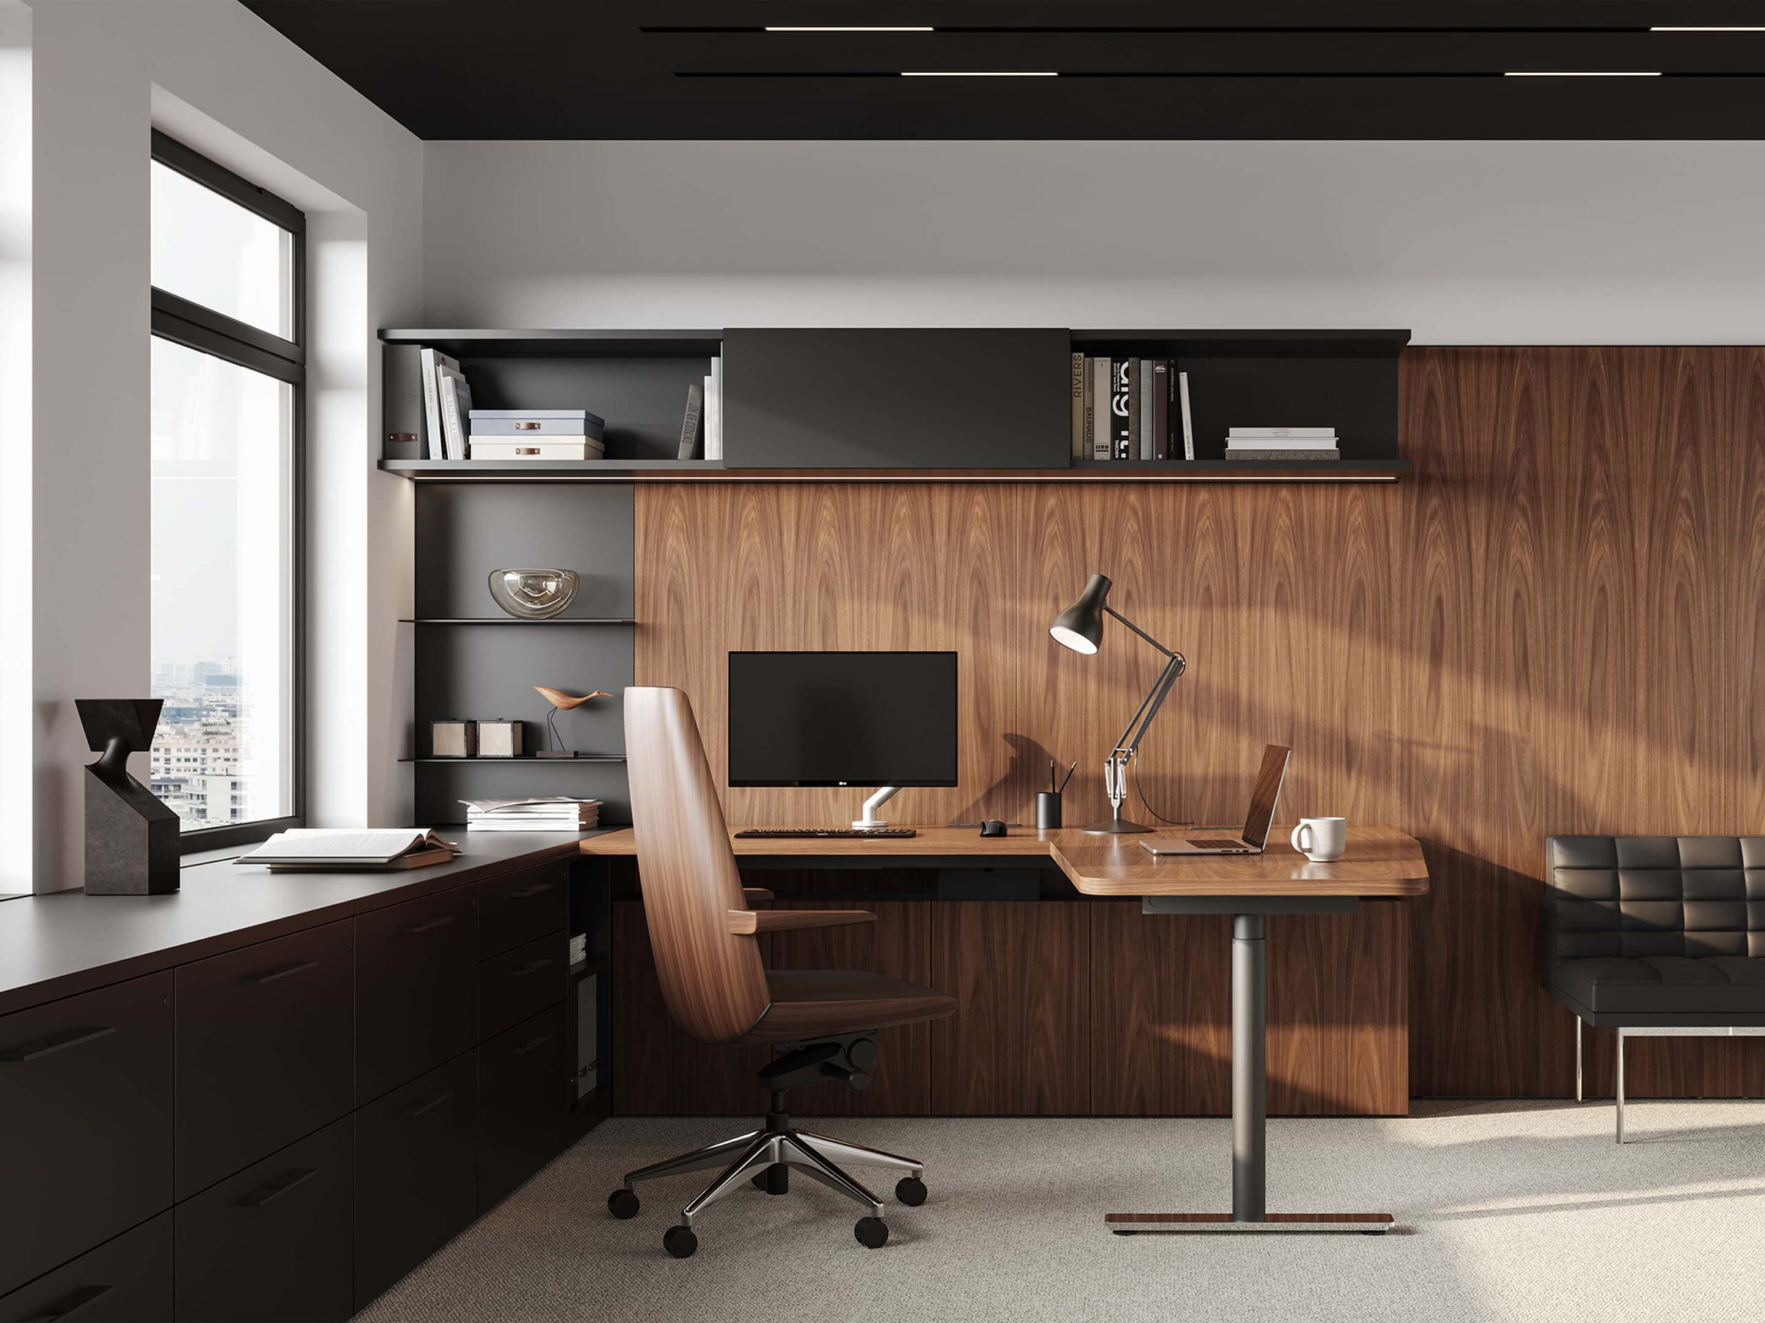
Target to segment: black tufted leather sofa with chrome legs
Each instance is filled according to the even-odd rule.
[[[1638,1034],[1765,1032],[1765,836],[1551,836],[1544,986],[1581,1021]]]

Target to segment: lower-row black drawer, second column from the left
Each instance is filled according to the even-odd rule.
[[[173,1214],[180,1323],[349,1318],[351,1118]]]

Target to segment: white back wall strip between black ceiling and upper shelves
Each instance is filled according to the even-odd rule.
[[[429,143],[434,325],[1765,340],[1761,143]]]

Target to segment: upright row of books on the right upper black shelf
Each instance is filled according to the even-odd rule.
[[[1190,374],[1174,358],[1073,355],[1073,459],[1195,459]]]

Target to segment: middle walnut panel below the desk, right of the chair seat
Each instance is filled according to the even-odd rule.
[[[934,901],[932,979],[960,1002],[932,1021],[932,1111],[1091,1111],[1094,901]]]

